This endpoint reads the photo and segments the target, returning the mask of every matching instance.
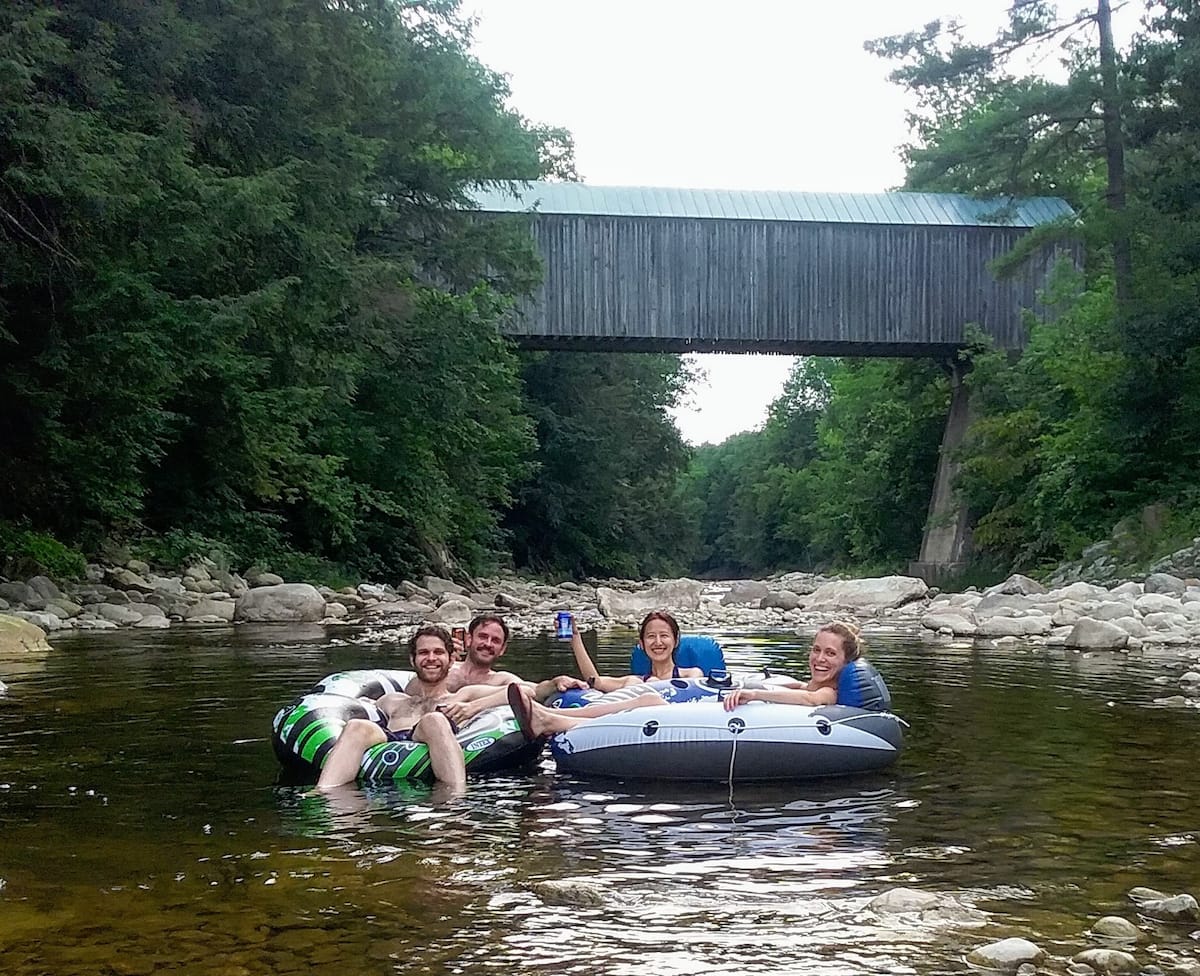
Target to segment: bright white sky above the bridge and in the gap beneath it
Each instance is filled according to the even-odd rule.
[[[464,0],[475,53],[512,106],[575,138],[586,182],[877,192],[904,180],[905,97],[863,42],[958,18],[989,36],[1004,0]],[[690,443],[766,419],[791,358],[701,355],[676,417]]]

